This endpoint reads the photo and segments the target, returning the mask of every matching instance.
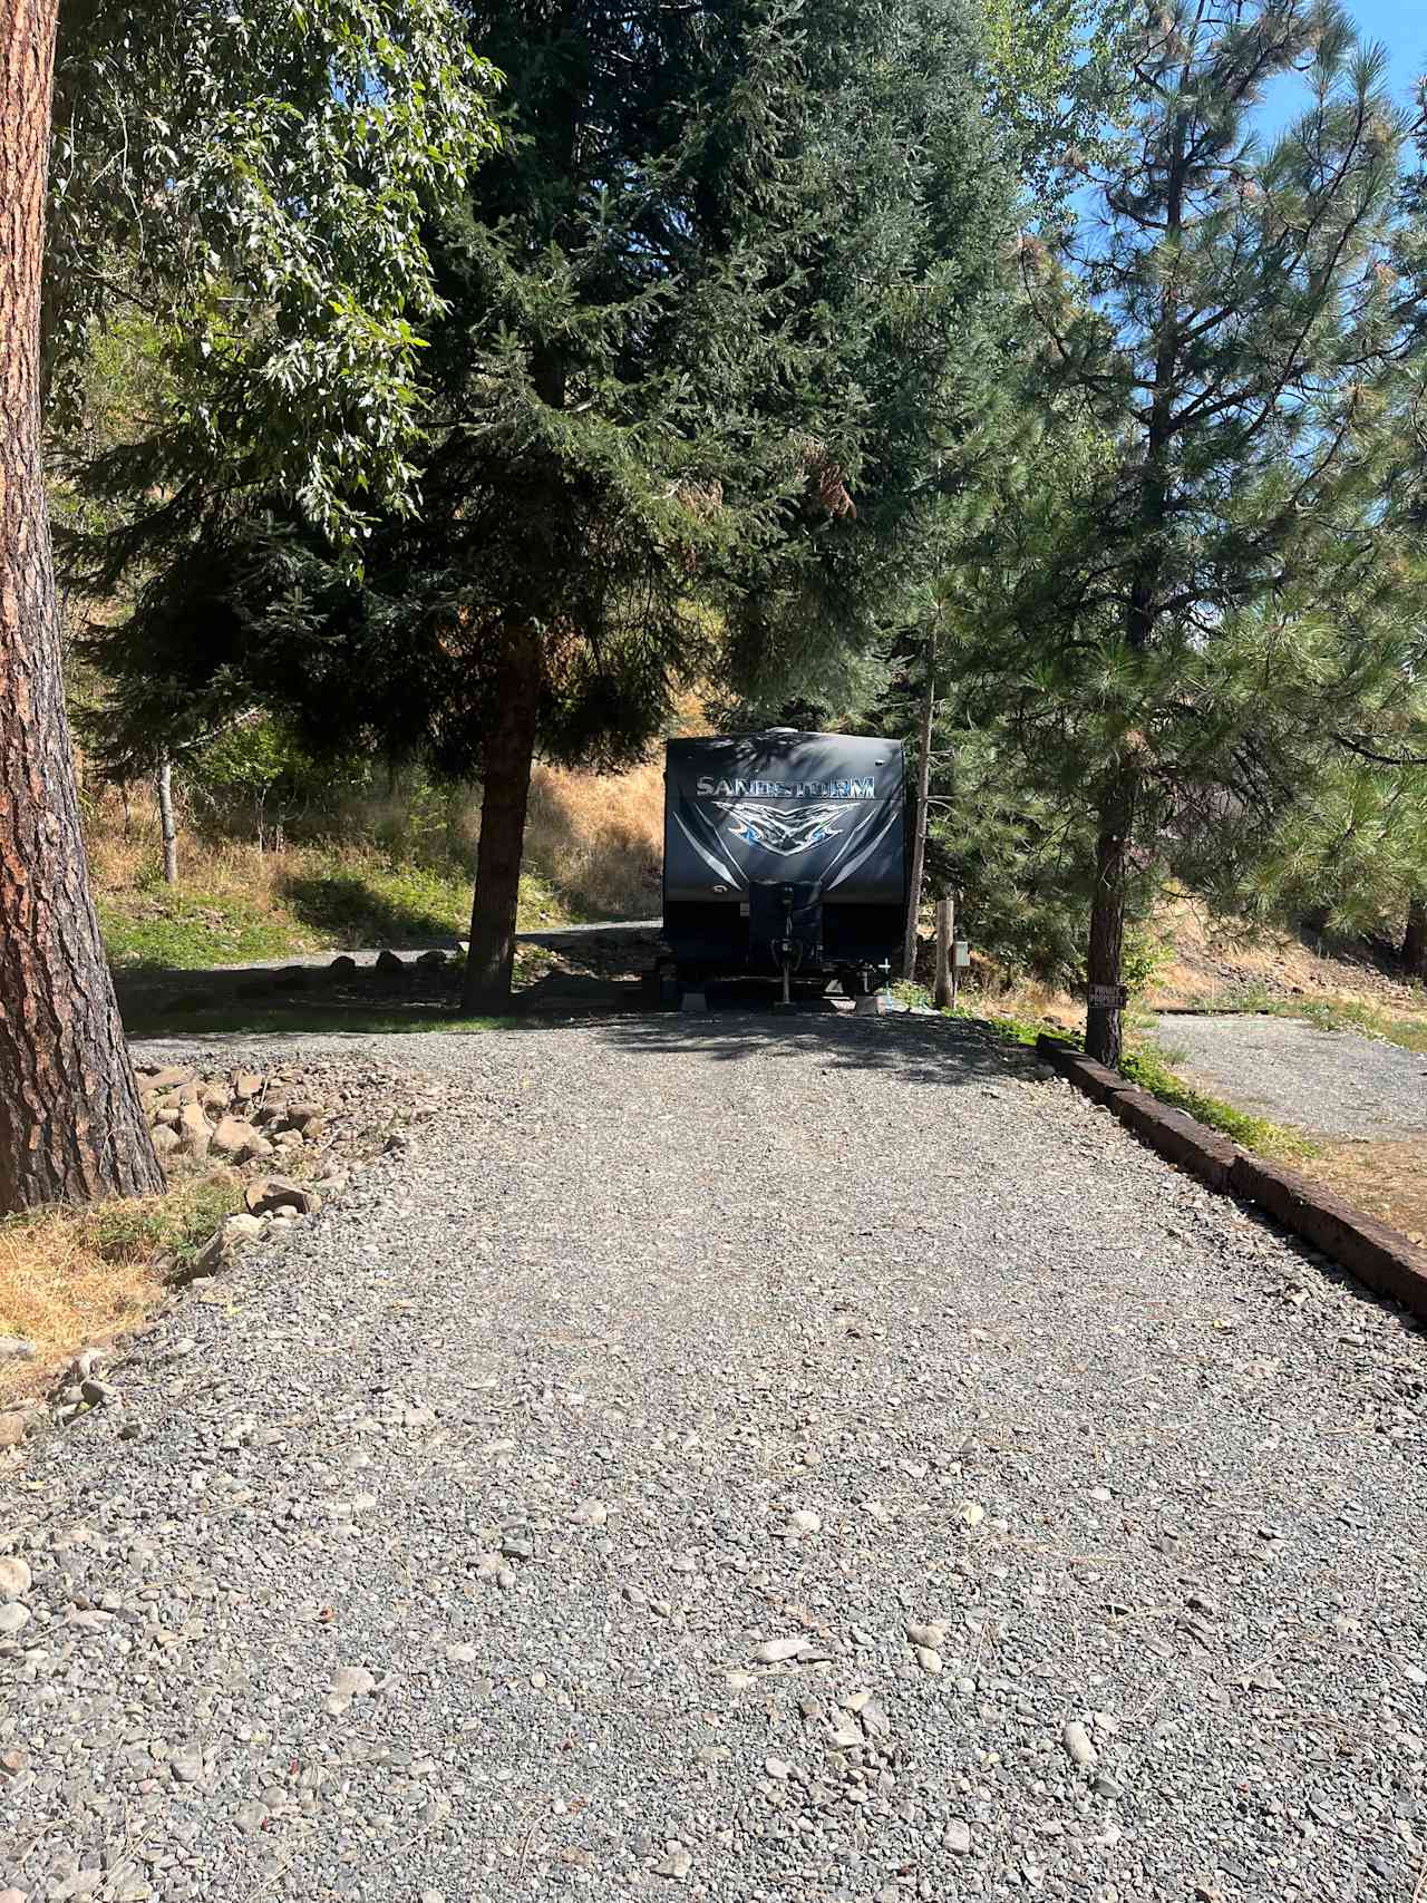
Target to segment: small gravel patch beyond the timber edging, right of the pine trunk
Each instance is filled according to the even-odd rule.
[[[1183,1050],[1201,1083],[1239,1109],[1320,1136],[1427,1130],[1427,1054],[1357,1031],[1319,1031],[1301,1018],[1155,1020],[1166,1050]]]

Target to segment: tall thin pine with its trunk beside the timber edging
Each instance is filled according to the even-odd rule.
[[[1254,108],[1290,72],[1309,110],[1263,148]],[[1086,1043],[1105,1062],[1126,910],[1168,864],[1241,883],[1324,729],[1395,676],[1393,537],[1362,531],[1391,461],[1379,384],[1419,310],[1379,76],[1330,0],[1147,8],[1096,217],[1064,266],[1024,247],[1054,377],[1113,453],[1045,523],[972,668],[1090,809]]]

